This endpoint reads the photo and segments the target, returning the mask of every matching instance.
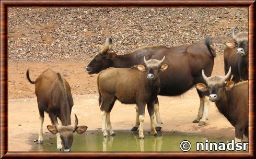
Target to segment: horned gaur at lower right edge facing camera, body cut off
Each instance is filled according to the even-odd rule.
[[[229,81],[231,67],[227,75],[206,77],[204,70],[202,75],[206,81],[196,84],[200,91],[209,91],[209,99],[215,102],[218,110],[235,127],[235,142],[241,142],[243,134],[248,137],[249,104],[248,104],[248,81],[235,84]]]

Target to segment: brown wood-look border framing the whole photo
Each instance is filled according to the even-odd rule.
[[[249,9],[249,152],[8,152],[8,7],[248,7]],[[1,1],[1,158],[44,157],[248,157],[255,158],[254,35],[255,1]]]

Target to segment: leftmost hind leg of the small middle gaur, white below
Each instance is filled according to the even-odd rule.
[[[100,105],[101,118],[102,118],[102,132],[104,138],[108,138],[107,132],[107,113],[109,112],[110,107],[114,104],[114,96],[108,94],[102,94],[102,102]]]

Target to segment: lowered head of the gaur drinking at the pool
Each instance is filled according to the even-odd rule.
[[[54,125],[48,125],[47,129],[53,133],[60,133],[62,144],[64,147],[65,152],[69,152],[71,150],[71,145],[73,142],[73,133],[76,131],[77,133],[81,134],[84,133],[87,130],[87,126],[77,126],[78,125],[78,119],[75,114],[76,120],[74,125],[68,125],[68,126],[61,126],[58,124],[57,117],[54,118]]]

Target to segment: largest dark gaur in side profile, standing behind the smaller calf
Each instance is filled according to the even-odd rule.
[[[117,55],[109,53],[112,48],[111,38],[107,38],[105,47],[91,60],[86,67],[88,74],[98,74],[101,70],[116,68],[131,68],[134,65],[143,64],[143,57],[146,59],[160,59],[165,56],[165,63],[169,69],[160,75],[161,85],[159,95],[174,96],[180,95],[193,87],[196,83],[204,82],[201,70],[205,70],[207,76],[211,76],[215,51],[210,46],[208,39],[205,42],[177,47],[149,46],[139,48],[130,54]],[[208,114],[208,103],[205,95],[208,93],[197,91],[200,97],[200,107],[197,117],[193,123],[205,125]],[[158,99],[155,101],[155,114],[157,120],[156,130],[161,129],[161,119],[159,115]],[[200,121],[200,122],[199,122]],[[138,115],[136,124],[138,123]],[[138,125],[132,128],[138,129]]]

